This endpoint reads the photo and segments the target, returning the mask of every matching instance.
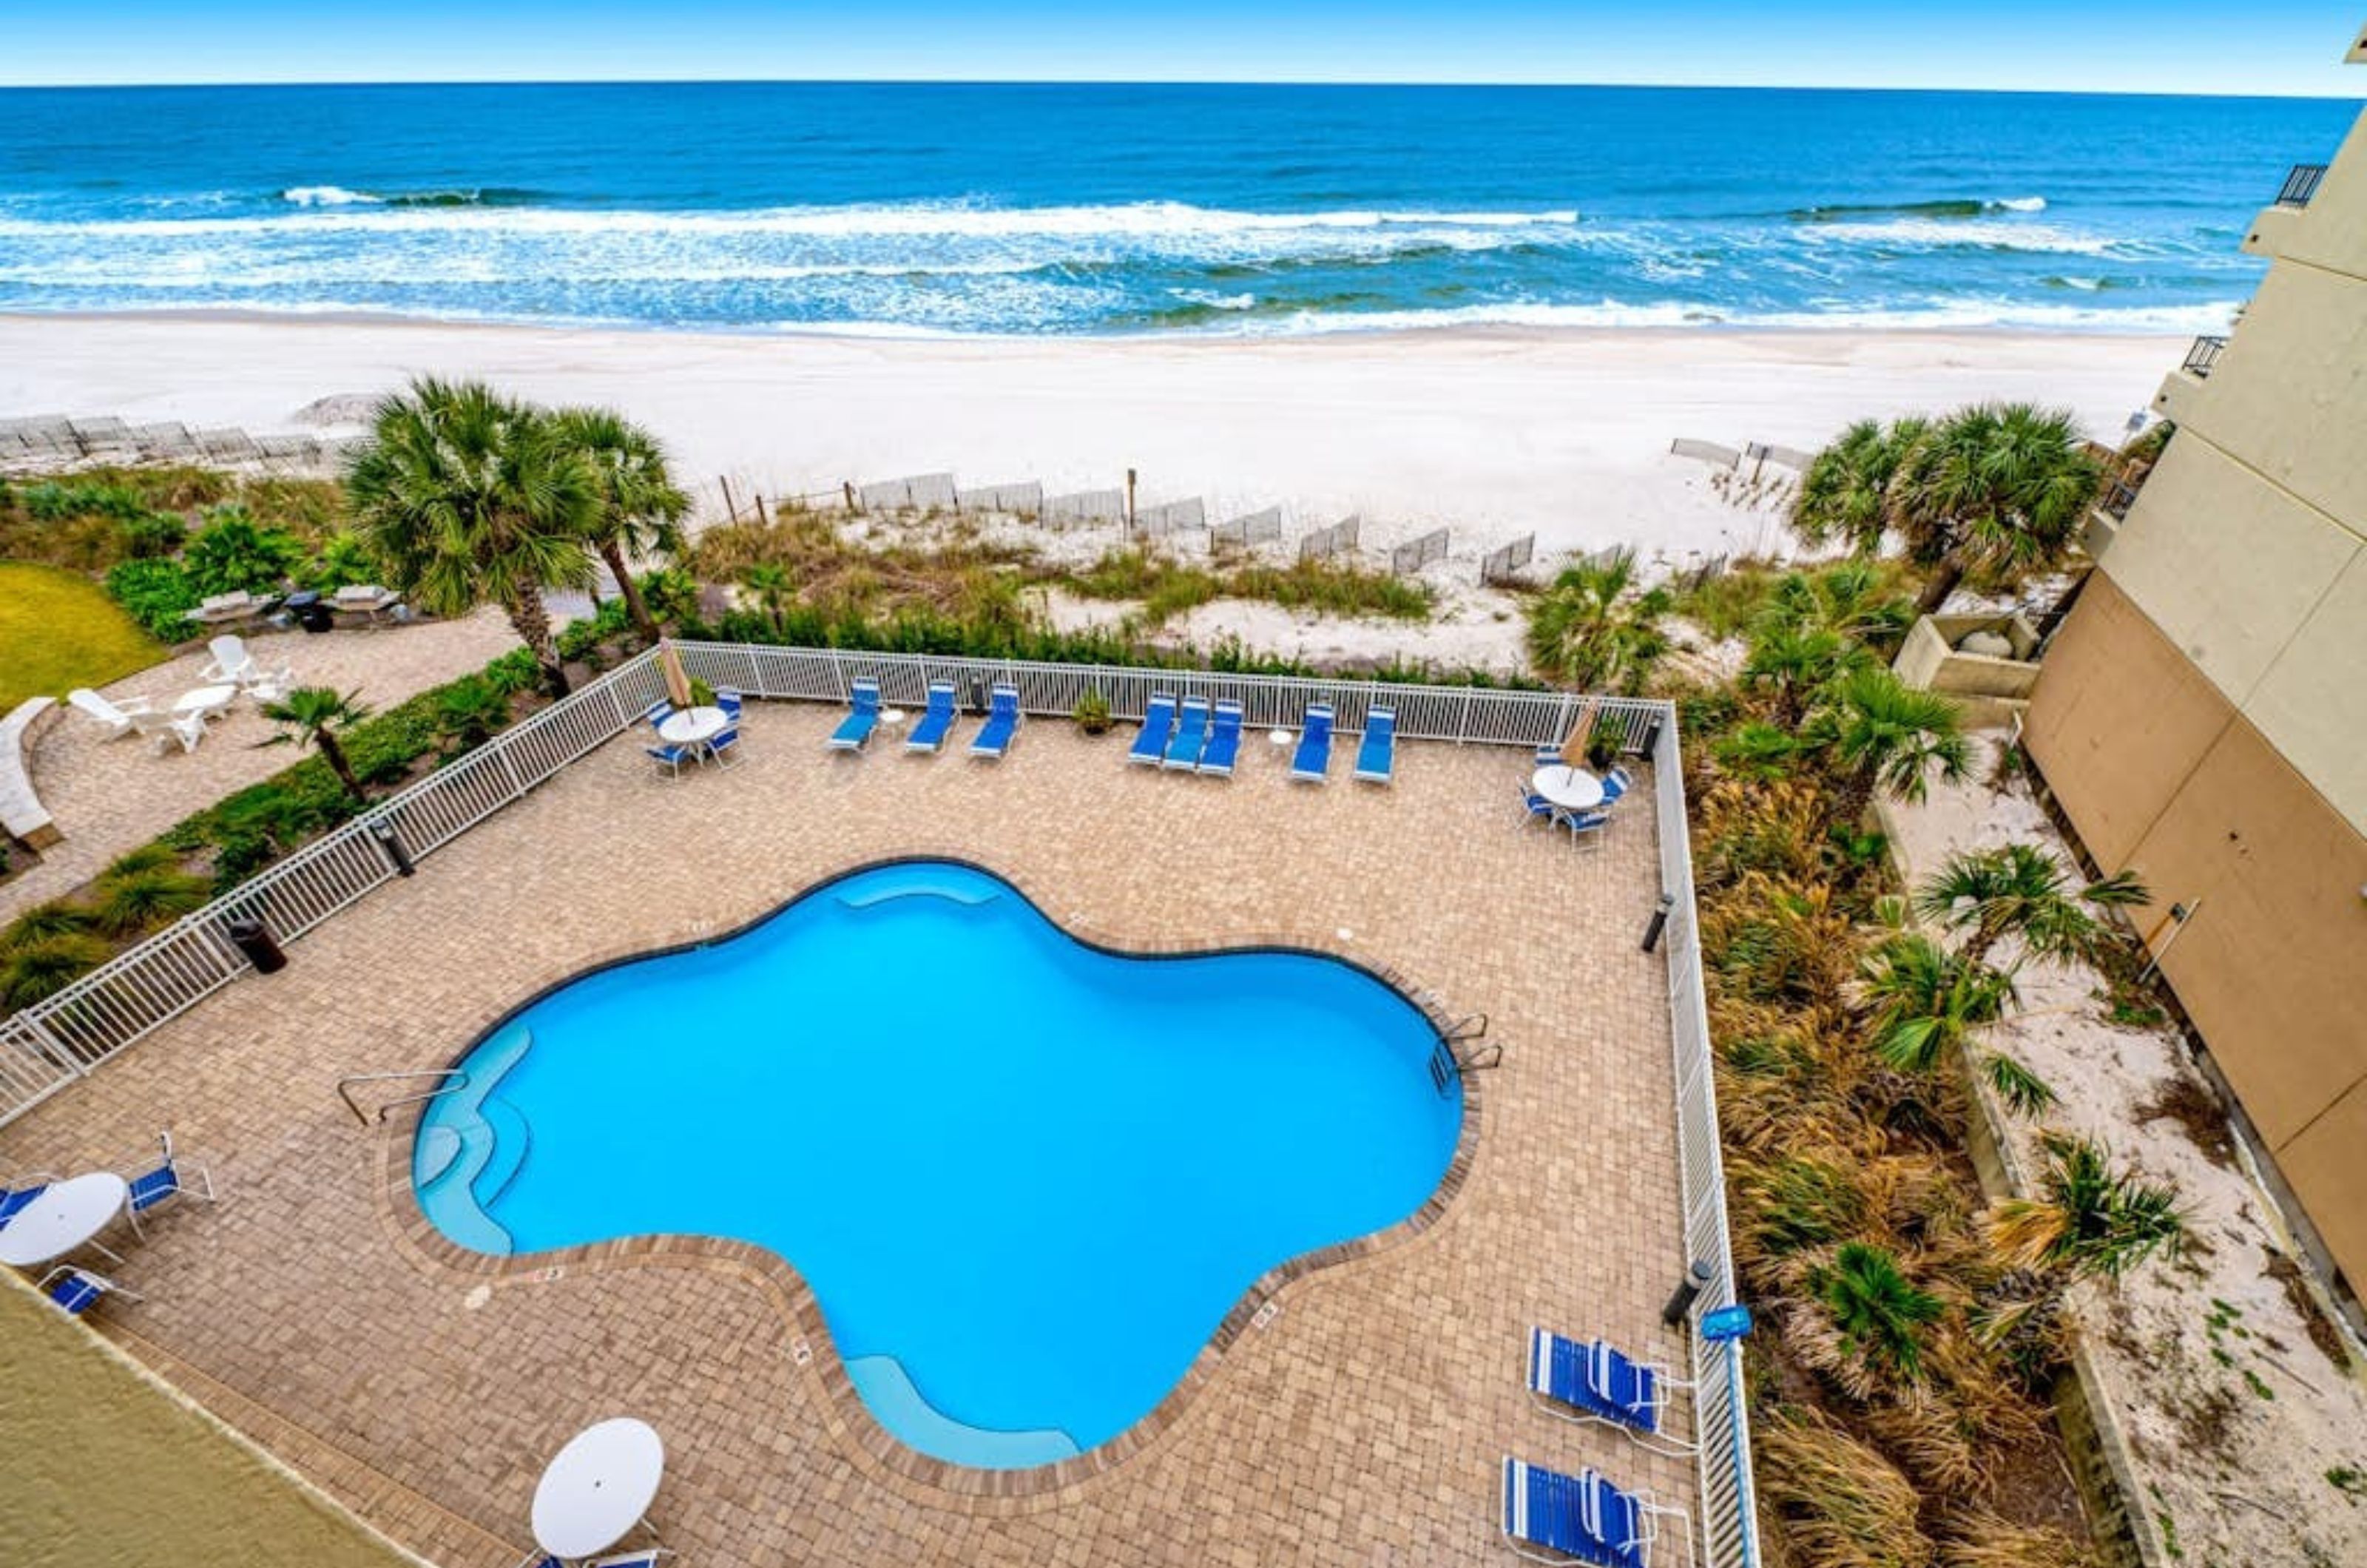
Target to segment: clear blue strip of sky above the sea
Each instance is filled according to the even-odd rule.
[[[2362,0],[0,0],[0,83],[1557,81],[2360,97]]]

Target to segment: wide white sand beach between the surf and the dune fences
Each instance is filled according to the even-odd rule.
[[[1456,557],[1782,545],[1690,436],[1815,448],[1863,415],[1979,398],[2073,407],[2118,441],[2182,341],[2017,332],[1458,329],[1297,339],[866,339],[414,324],[350,317],[0,317],[0,417],[298,429],[317,398],[412,374],[606,403],[656,429],[720,512],[743,497],[952,469],[968,486],[1356,512],[1366,545],[1453,526]],[[1771,469],[1771,478],[1778,476]]]

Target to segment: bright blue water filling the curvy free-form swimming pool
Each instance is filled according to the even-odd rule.
[[[772,1248],[888,1431],[1015,1469],[1148,1414],[1273,1265],[1413,1213],[1463,1118],[1437,1049],[1349,964],[1117,957],[902,862],[525,1007],[414,1180],[488,1253]]]

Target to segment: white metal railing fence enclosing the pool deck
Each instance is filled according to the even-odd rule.
[[[876,680],[883,701],[921,708],[933,680],[952,680],[966,703],[982,703],[987,689],[1004,682],[1018,687],[1020,706],[1034,715],[1068,715],[1084,692],[1101,692],[1115,718],[1141,718],[1153,692],[1172,692],[1233,699],[1243,703],[1243,718],[1252,727],[1297,725],[1309,703],[1323,701],[1347,732],[1363,730],[1366,713],[1387,706],[1397,711],[1397,732],[1404,739],[1491,746],[1560,741],[1593,706],[1598,734],[1617,734],[1626,751],[1650,756],[1655,763],[1662,891],[1673,900],[1664,943],[1685,1253],[1688,1260],[1707,1262],[1711,1270],[1697,1312],[1735,1300],[1700,928],[1692,907],[1692,853],[1685,834],[1685,779],[1671,703],[1569,692],[937,658],[743,642],[675,647],[694,677],[765,699],[845,701],[854,680]],[[279,943],[301,938],[398,874],[393,850],[381,834],[391,834],[409,860],[426,860],[478,822],[525,798],[573,760],[623,734],[663,694],[658,656],[639,654],[182,917],[54,997],[0,1021],[0,1125],[246,973],[249,962],[230,940],[234,921],[256,919]],[[1692,1371],[1700,1388],[1707,1568],[1756,1568],[1740,1352],[1735,1345],[1704,1343],[1695,1336]]]

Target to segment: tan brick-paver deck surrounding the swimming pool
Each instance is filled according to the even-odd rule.
[[[1659,893],[1650,770],[1602,848],[1572,850],[1520,824],[1513,748],[1404,744],[1392,789],[1349,784],[1335,753],[1316,789],[1257,737],[1219,782],[1127,767],[1122,732],[1065,722],[1030,725],[999,765],[909,758],[888,734],[831,756],[836,718],[755,706],[746,763],[679,784],[613,741],[308,936],[284,973],[0,1130],[5,1168],[128,1165],[161,1125],[211,1165],[222,1201],[123,1248],[147,1303],[109,1303],[104,1331],[450,1568],[514,1568],[542,1461],[611,1414],[665,1435],[651,1518],[696,1568],[1513,1561],[1508,1452],[1690,1509],[1690,1464],[1557,1421],[1522,1386],[1531,1322],[1681,1360],[1659,1326],[1683,1270],[1666,971],[1638,950]],[[1281,940],[1489,1014],[1503,1068],[1472,1075],[1460,1182],[1427,1225],[1283,1281],[1276,1310],[1252,1293],[1122,1454],[989,1483],[862,1416],[779,1260],[696,1239],[464,1255],[409,1206],[407,1118],[365,1132],[334,1094],[343,1073],[447,1063],[578,969],[897,855],[985,865],[1112,945]],[[959,959],[916,962],[881,1007],[959,1028],[978,995]]]

